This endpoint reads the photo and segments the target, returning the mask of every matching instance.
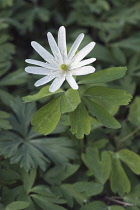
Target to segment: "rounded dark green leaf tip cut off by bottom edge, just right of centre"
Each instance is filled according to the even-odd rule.
[[[106,210],[107,206],[105,203],[101,201],[94,201],[80,208],[80,210],[91,210],[91,209]]]

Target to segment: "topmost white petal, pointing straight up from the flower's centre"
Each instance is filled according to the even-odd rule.
[[[65,63],[67,56],[67,46],[66,46],[66,30],[64,26],[61,26],[58,31],[58,47],[63,58],[63,63]]]

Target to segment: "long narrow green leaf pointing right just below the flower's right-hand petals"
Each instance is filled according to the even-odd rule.
[[[100,70],[93,74],[89,74],[84,79],[79,81],[79,84],[110,82],[122,78],[126,74],[126,71],[126,67],[112,67],[109,69]]]

